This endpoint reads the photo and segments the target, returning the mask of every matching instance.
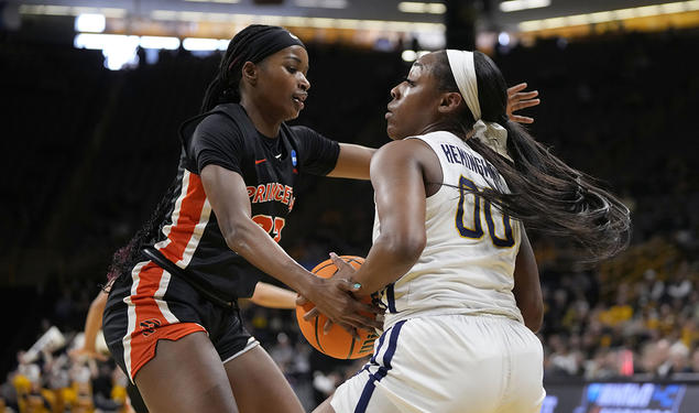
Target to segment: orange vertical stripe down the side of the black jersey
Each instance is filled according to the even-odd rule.
[[[160,251],[172,262],[182,260],[187,243],[194,235],[194,229],[199,224],[201,210],[206,203],[206,193],[201,184],[201,177],[197,174],[189,173],[189,184],[187,185],[187,194],[179,205],[179,217],[177,222],[172,222],[170,230],[170,241],[165,248]],[[175,215],[176,211],[173,211]]]

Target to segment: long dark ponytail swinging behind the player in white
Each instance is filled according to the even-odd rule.
[[[614,257],[630,240],[629,208],[593,177],[568,166],[516,122],[505,121],[513,164],[478,140],[468,144],[498,169],[510,194],[484,189],[483,197],[527,228],[571,238],[581,261]]]

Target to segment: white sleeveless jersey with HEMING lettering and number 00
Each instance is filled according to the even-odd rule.
[[[416,316],[496,314],[523,322],[512,289],[520,222],[469,189],[509,191],[498,171],[450,132],[415,137],[439,157],[439,191],[427,198],[427,243],[413,268],[382,293],[384,328]],[[499,183],[499,185],[496,185]],[[381,225],[376,214],[373,240]]]

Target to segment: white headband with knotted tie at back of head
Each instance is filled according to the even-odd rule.
[[[481,119],[481,105],[478,101],[478,80],[476,79],[473,52],[447,50],[447,58],[457,86],[459,86],[461,97],[476,120],[476,124],[473,124],[473,137],[501,156],[512,161],[512,157],[507,154],[507,130],[500,123],[484,122]]]

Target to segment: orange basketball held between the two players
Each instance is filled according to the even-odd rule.
[[[340,258],[356,269],[364,263],[364,259],[361,257],[341,256]],[[310,272],[324,279],[329,279],[337,272],[337,267],[332,263],[332,260],[328,259],[316,265]],[[371,296],[367,296],[363,302],[371,303]],[[342,327],[334,324],[328,334],[324,334],[323,327],[328,317],[321,314],[308,322],[304,319],[304,315],[313,309],[313,307],[315,307],[315,305],[310,302],[296,306],[296,319],[306,340],[318,351],[336,359],[358,359],[373,352],[374,340],[379,337],[375,332],[359,329],[360,338],[356,339]],[[367,313],[365,315],[374,316],[371,313]]]

